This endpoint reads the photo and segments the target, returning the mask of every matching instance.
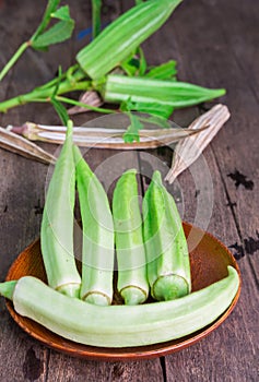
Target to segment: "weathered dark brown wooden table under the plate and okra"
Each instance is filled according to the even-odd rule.
[[[46,2],[46,1],[45,1]],[[45,3],[43,2],[43,3]],[[113,20],[133,1],[104,1],[106,20]],[[1,83],[1,99],[50,80],[58,64],[67,68],[87,44],[80,31],[90,26],[91,2],[69,1],[76,20],[71,41],[49,52],[27,50]],[[44,4],[33,0],[0,1],[0,65],[36,28]],[[152,64],[178,61],[178,74],[208,87],[225,87],[221,99],[232,119],[204,152],[213,186],[208,230],[233,251],[243,275],[243,290],[231,317],[215,332],[185,350],[152,360],[101,362],[70,358],[40,345],[10,318],[0,301],[1,381],[256,381],[258,380],[258,249],[259,249],[259,7],[256,0],[184,1],[144,50]],[[210,105],[205,105],[205,107]],[[188,126],[203,107],[177,111],[174,120]],[[79,124],[96,115],[76,117]],[[27,105],[0,117],[2,127],[25,121],[59,123],[48,105]],[[56,147],[40,144],[49,152]],[[169,166],[172,152],[149,152]],[[91,150],[87,160],[96,168],[115,153]],[[133,157],[136,158],[136,153]],[[132,157],[132,160],[133,160]],[[157,160],[158,160],[157,159]],[[138,155],[140,168],[151,166]],[[142,167],[141,167],[142,166]],[[0,150],[0,277],[16,255],[39,235],[48,167]],[[196,171],[197,186],[192,171]],[[204,171],[199,164],[184,172],[179,184],[185,201],[184,219],[202,226],[196,216],[202,199]],[[174,191],[169,188],[169,190]],[[203,206],[207,214],[211,205]],[[207,211],[208,208],[208,211]]]

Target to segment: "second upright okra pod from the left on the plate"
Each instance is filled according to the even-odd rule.
[[[76,188],[83,224],[81,299],[110,305],[114,275],[114,223],[107,195],[95,174],[73,146]]]

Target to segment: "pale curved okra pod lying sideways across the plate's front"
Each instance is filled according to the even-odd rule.
[[[0,284],[15,311],[76,343],[127,347],[162,343],[193,333],[216,320],[239,288],[237,271],[173,301],[98,307],[63,296],[32,276]]]

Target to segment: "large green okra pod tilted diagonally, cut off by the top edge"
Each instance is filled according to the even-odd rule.
[[[131,8],[79,51],[80,67],[94,80],[119,65],[157,31],[181,0],[149,0]]]

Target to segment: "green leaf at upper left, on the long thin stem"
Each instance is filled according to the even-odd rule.
[[[70,38],[74,28],[74,21],[70,17],[68,5],[61,7],[51,14],[54,19],[60,20],[38,37],[33,39],[32,46],[35,49],[42,49],[57,43],[62,43]]]

